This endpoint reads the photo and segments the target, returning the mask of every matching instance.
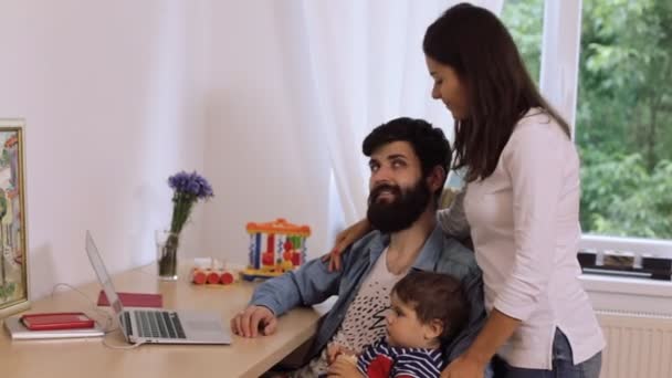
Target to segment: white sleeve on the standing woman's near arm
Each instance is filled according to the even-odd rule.
[[[511,137],[502,164],[511,177],[515,252],[493,307],[525,322],[547,295],[559,238],[573,232],[567,228],[579,237],[578,157],[557,125],[528,124]]]

